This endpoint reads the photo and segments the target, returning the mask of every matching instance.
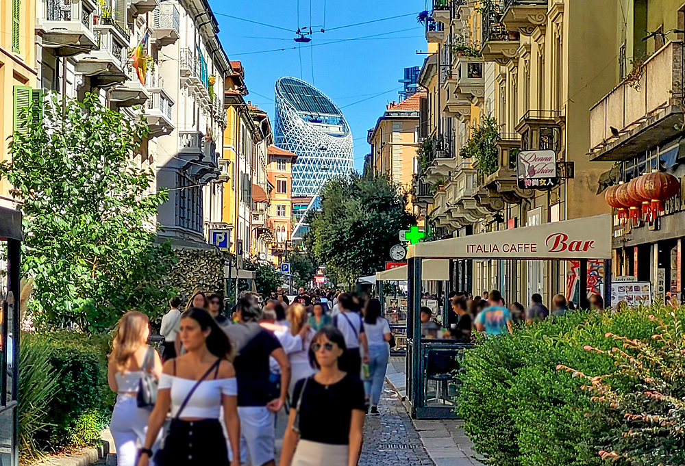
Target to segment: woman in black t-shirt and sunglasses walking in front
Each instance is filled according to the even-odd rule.
[[[364,384],[358,375],[338,369],[345,349],[345,337],[334,326],[314,335],[309,359],[320,372],[295,384],[280,466],[357,465],[366,414]]]

